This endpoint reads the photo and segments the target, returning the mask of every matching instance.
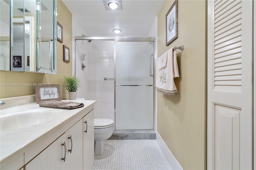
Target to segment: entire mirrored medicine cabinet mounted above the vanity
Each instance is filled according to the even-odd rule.
[[[56,74],[56,0],[0,0],[0,70]]]

